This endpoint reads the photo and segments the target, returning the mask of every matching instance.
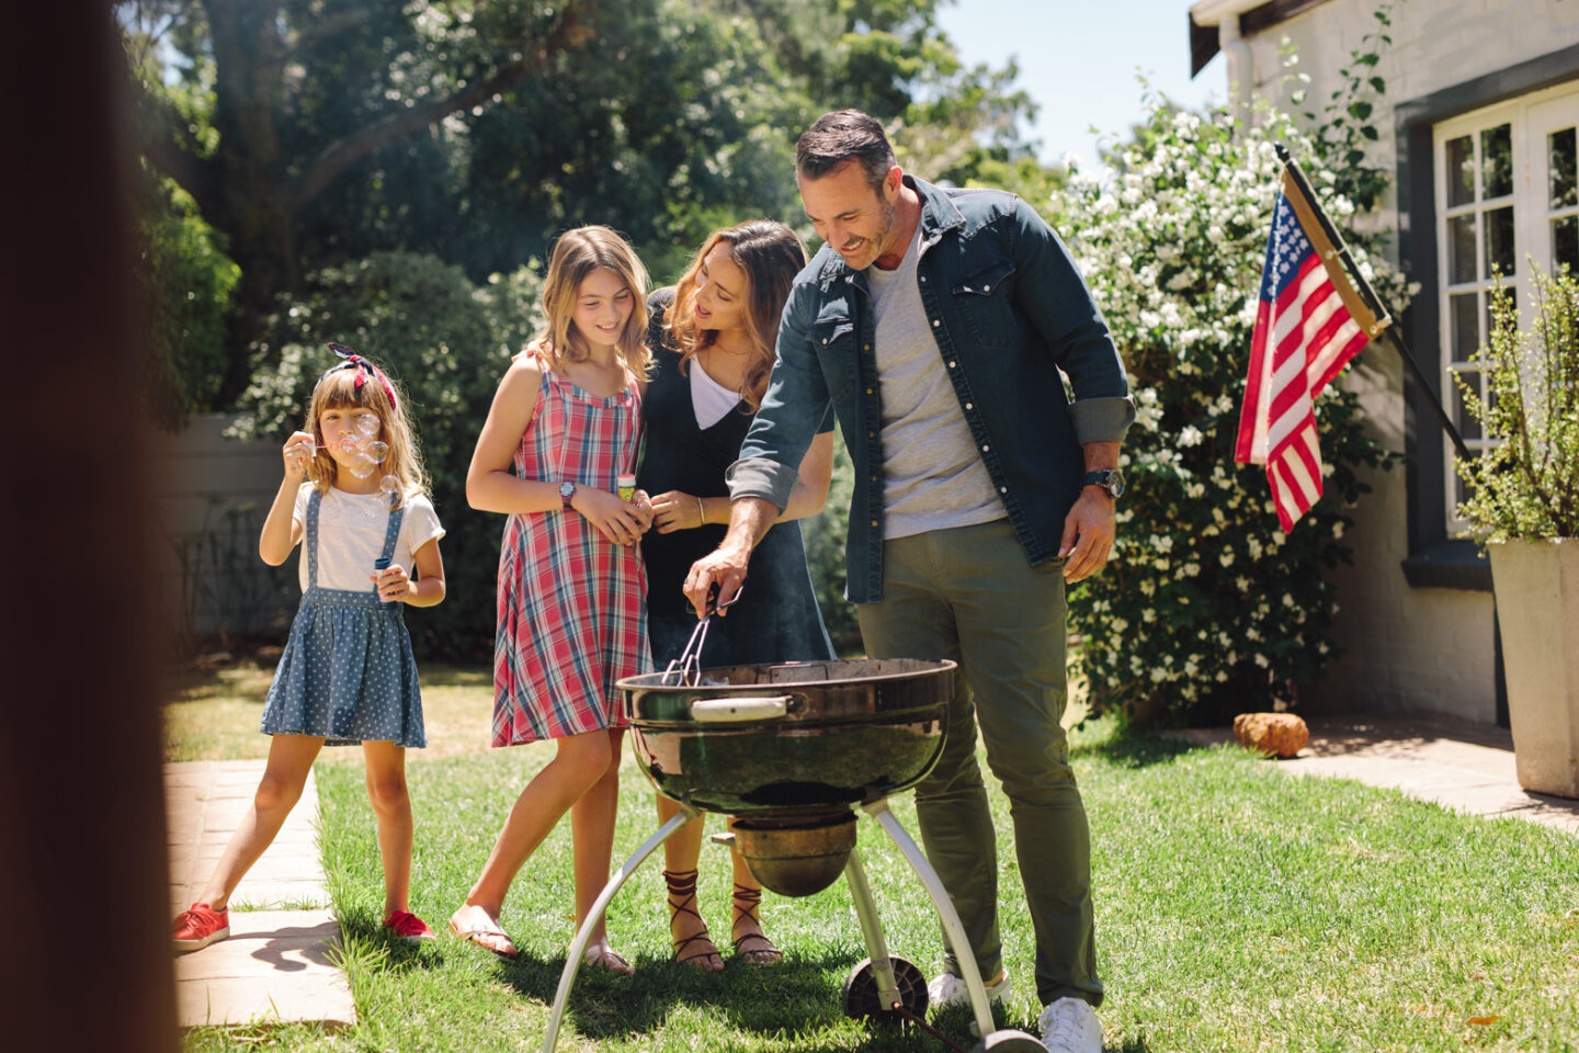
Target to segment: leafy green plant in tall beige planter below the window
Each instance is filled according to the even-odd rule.
[[[1491,553],[1519,785],[1579,797],[1579,283],[1533,276],[1519,327],[1513,294],[1492,295],[1470,415],[1497,445],[1459,461],[1459,515]]]

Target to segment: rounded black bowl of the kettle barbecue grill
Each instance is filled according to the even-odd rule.
[[[952,661],[857,658],[627,677],[658,793],[725,815],[850,807],[914,786],[943,751]],[[669,677],[671,680],[674,677]]]

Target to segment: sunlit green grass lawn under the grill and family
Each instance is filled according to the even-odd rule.
[[[475,745],[486,679],[434,676],[458,695],[456,740]],[[412,906],[436,928],[549,748],[463,753],[441,744],[448,756],[414,755]],[[1108,1050],[1579,1050],[1579,840],[1391,791],[1290,778],[1240,750],[1108,721],[1077,733],[1075,764],[1093,826]],[[624,775],[619,859],[657,827],[651,789],[628,756]],[[360,1023],[330,1034],[201,1029],[186,1048],[538,1048],[573,935],[568,824],[516,881],[504,925],[523,957],[507,965],[448,938],[420,949],[385,941],[360,764],[321,766],[319,793]],[[995,808],[1006,832],[1007,805],[995,799]],[[910,796],[895,813],[914,832]],[[930,974],[941,938],[925,894],[868,819],[861,851],[891,949]],[[715,933],[728,931],[726,862],[722,848],[704,851],[703,914]],[[941,1053],[925,1036],[872,1031],[840,1014],[845,974],[865,955],[842,884],[805,900],[769,897],[764,922],[786,950],[778,966],[731,961],[722,976],[701,976],[668,961],[657,864],[609,911],[636,976],[583,971],[561,1050]],[[1006,838],[1001,864],[1017,980],[1003,1017],[1033,1029],[1030,922]],[[944,1017],[943,1028],[973,1045],[965,1014]]]

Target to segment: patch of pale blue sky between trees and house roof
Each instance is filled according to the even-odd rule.
[[[1153,88],[1195,109],[1227,95],[1222,57],[1189,79],[1191,0],[944,0],[938,22],[965,62],[1020,60],[1020,85],[1041,106],[1030,137],[1044,161],[1096,163],[1097,137],[1140,118],[1137,68]]]

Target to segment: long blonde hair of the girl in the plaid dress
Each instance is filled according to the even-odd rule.
[[[543,316],[548,324],[532,341],[532,350],[542,355],[551,368],[584,360],[592,349],[576,335],[572,317],[576,297],[587,275],[606,267],[630,289],[630,316],[619,335],[614,352],[633,374],[646,376],[652,365],[652,350],[646,344],[647,332],[647,268],[641,265],[636,251],[625,238],[603,226],[565,230],[554,242],[548,257],[548,276],[543,279]]]

